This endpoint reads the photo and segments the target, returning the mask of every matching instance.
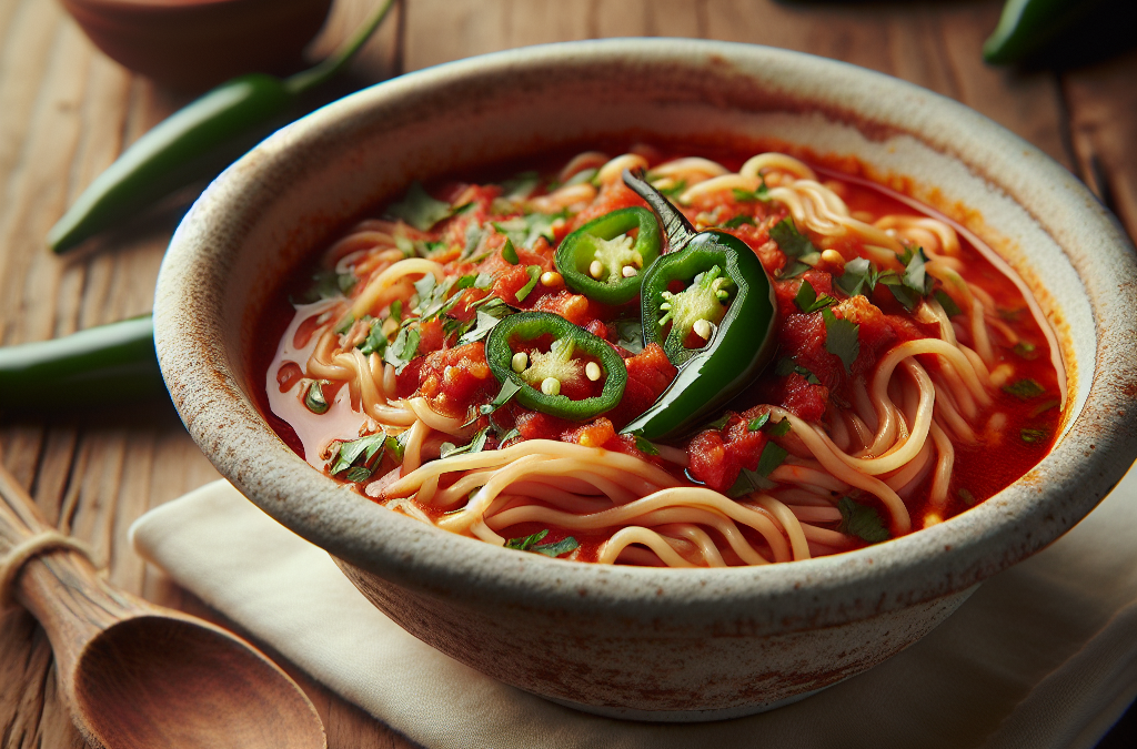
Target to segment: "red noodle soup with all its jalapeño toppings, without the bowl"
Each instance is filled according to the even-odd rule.
[[[266,399],[313,466],[455,533],[804,559],[1046,455],[1064,381],[1024,289],[947,218],[786,155],[587,151],[354,226],[271,321]]]

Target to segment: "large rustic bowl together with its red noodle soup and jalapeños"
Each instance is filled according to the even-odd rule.
[[[191,435],[415,636],[700,721],[898,652],[1137,452],[1132,249],[911,84],[617,40],[280,131],[164,261]]]

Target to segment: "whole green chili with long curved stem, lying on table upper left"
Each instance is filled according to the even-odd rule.
[[[301,97],[339,74],[379,27],[393,0],[375,13],[335,55],[281,80],[262,73],[233,78],[192,101],[127,148],[83,191],[51,231],[63,252],[200,180],[299,113]]]

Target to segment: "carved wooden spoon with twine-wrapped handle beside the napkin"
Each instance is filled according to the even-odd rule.
[[[0,467],[0,559],[49,530]],[[51,640],[64,701],[98,749],[324,749],[324,726],[296,683],[225,630],[105,583],[86,557],[28,560],[16,599]]]

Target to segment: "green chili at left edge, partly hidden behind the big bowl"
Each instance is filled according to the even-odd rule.
[[[0,408],[6,410],[101,405],[165,392],[150,315],[0,348]]]

